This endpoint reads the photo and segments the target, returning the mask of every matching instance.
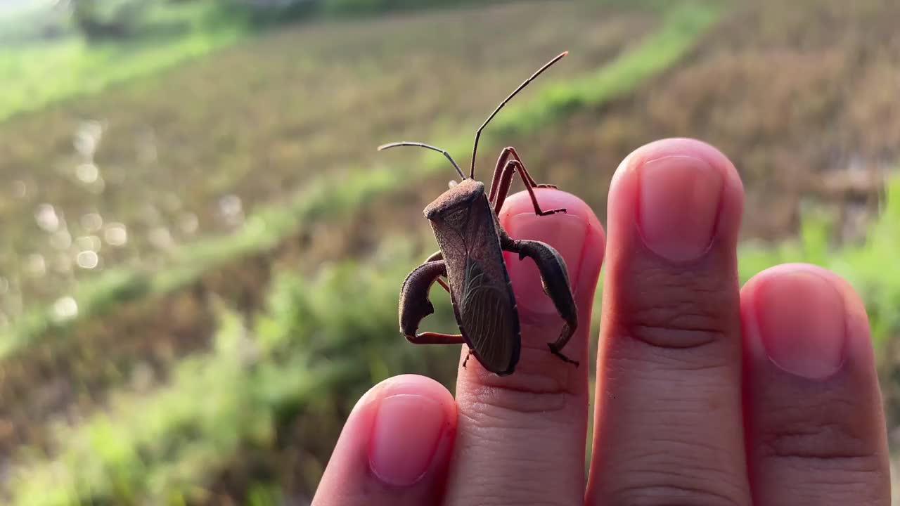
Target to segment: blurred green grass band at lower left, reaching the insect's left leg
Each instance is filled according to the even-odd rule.
[[[450,350],[396,339],[397,278],[412,257],[407,250],[383,258],[342,262],[315,279],[278,276],[268,311],[250,329],[238,314],[221,312],[215,348],[183,360],[166,387],[125,395],[108,412],[60,429],[58,456],[21,468],[14,503],[196,501],[223,465],[274,450],[279,430],[298,416],[333,438],[334,414],[346,416],[367,385],[391,371],[442,372],[449,380]],[[368,303],[344,303],[361,292]],[[450,329],[452,312],[441,309],[430,324]]]

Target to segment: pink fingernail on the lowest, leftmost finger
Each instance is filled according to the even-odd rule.
[[[444,409],[415,394],[385,397],[378,406],[369,466],[384,483],[410,486],[431,466],[446,427]]]

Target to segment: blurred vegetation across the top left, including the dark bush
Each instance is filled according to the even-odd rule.
[[[358,17],[461,3],[464,2],[64,1],[62,4],[71,5],[71,23],[59,12],[48,9],[0,19],[0,42],[13,42],[0,50],[0,75],[8,79],[4,82],[4,94],[0,95],[0,121],[148,77],[247,40],[273,25],[313,15]]]

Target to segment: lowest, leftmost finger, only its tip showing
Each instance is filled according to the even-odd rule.
[[[313,506],[439,503],[455,429],[443,385],[418,375],[377,384],[348,417]]]

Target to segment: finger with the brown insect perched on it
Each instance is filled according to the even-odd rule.
[[[587,431],[586,365],[590,306],[603,258],[604,234],[587,204],[572,194],[540,189],[537,216],[526,193],[511,195],[500,222],[512,239],[543,240],[570,273],[579,326],[563,362],[547,348],[563,326],[541,286],[535,263],[507,256],[518,303],[522,349],[516,371],[488,373],[476,359],[456,385],[459,428],[446,504],[581,504]],[[463,357],[467,354],[466,347]]]

